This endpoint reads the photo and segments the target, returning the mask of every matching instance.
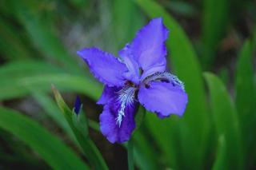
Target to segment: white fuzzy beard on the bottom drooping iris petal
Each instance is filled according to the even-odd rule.
[[[135,91],[136,88],[134,87],[124,87],[120,91],[118,91],[118,101],[121,102],[121,107],[118,110],[118,117],[115,118],[117,121],[117,125],[121,126],[122,124],[122,117],[125,117],[125,109],[126,105],[132,105],[135,100]]]

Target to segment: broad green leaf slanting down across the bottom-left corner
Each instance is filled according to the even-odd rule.
[[[54,169],[89,169],[61,140],[21,113],[1,107],[0,127],[23,140]]]

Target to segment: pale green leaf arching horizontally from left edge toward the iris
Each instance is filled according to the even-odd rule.
[[[52,73],[21,77],[2,81],[0,99],[23,97],[30,93],[30,89],[40,89],[43,92],[50,91],[50,85],[54,84],[64,91],[83,93],[96,100],[100,96],[100,85],[95,86],[92,81],[86,81],[85,77],[74,76],[66,73]]]

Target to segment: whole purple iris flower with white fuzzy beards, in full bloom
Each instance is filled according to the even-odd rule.
[[[184,113],[188,101],[184,85],[166,72],[168,32],[162,18],[154,18],[119,51],[119,57],[94,47],[78,51],[105,85],[97,103],[104,105],[100,129],[111,143],[130,139],[139,104],[160,118]]]

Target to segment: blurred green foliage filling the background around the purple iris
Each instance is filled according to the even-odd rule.
[[[137,168],[256,168],[255,16],[249,0],[2,0],[0,168],[126,168],[92,135],[102,136],[89,114],[102,85],[76,51],[116,53],[155,17],[170,30],[169,67],[189,103],[184,117],[146,113],[133,136]],[[58,109],[51,85],[66,101],[86,97],[85,113],[76,117],[55,89]]]

